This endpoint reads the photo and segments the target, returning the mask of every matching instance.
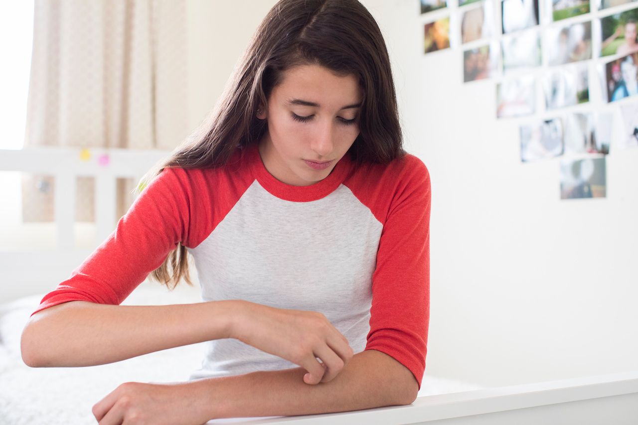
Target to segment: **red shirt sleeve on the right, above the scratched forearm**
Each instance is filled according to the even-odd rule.
[[[372,277],[366,350],[392,356],[421,388],[429,326],[430,177],[416,157],[397,184]]]

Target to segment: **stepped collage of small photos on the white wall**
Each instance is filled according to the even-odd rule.
[[[606,197],[616,108],[612,149],[638,147],[638,0],[420,0],[420,14],[423,53],[461,50],[463,83],[492,80],[496,118],[523,119],[522,163],[560,157],[561,199]]]

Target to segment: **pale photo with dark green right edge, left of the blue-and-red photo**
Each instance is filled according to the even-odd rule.
[[[543,77],[545,108],[565,108],[590,101],[589,72],[586,64],[563,66]]]

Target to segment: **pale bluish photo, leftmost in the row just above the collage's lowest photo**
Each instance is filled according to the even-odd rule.
[[[520,132],[522,162],[554,158],[565,151],[563,123],[560,118],[523,125]]]

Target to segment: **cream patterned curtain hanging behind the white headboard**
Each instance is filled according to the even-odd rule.
[[[25,149],[174,149],[188,135],[185,1],[35,0]],[[54,190],[24,176],[23,220],[52,221]],[[94,221],[93,179],[78,180],[77,199],[76,220]]]

